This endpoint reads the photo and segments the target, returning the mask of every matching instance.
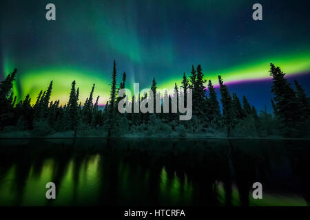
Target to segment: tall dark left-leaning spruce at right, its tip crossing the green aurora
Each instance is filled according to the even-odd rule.
[[[270,76],[273,77],[271,92],[274,95],[276,111],[280,117],[282,129],[286,136],[294,137],[300,134],[304,122],[300,102],[280,67],[270,64]]]

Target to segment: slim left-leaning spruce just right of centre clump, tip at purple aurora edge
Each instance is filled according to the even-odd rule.
[[[218,76],[218,82],[220,83],[220,102],[222,102],[223,108],[223,122],[227,127],[227,137],[230,137],[231,129],[234,126],[234,119],[236,118],[234,104],[227,86],[223,84],[221,76]]]

